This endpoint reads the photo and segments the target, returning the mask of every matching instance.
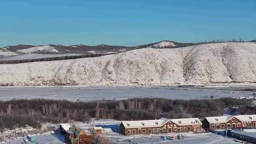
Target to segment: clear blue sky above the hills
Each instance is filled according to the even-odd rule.
[[[256,39],[256,0],[0,0],[0,47]]]

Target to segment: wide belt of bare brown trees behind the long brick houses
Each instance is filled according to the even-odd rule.
[[[117,120],[142,120],[160,117],[208,117],[223,114],[224,108],[238,108],[241,114],[255,114],[249,99],[127,99],[120,101],[71,102],[49,99],[0,101],[0,126],[32,125],[37,122],[90,121],[91,117]],[[235,111],[234,111],[235,112]],[[15,117],[25,118],[15,118]],[[13,119],[16,119],[13,121]],[[10,124],[13,121],[12,124]]]

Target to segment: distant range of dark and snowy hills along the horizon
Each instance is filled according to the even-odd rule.
[[[37,58],[47,58],[48,56],[53,56],[52,54],[56,54],[54,57],[58,57],[57,54],[62,54],[59,56],[63,56],[63,54],[70,54],[71,55],[105,55],[105,54],[117,54],[122,52],[127,52],[136,49],[142,48],[178,48],[178,47],[185,47],[185,46],[192,46],[192,45],[201,45],[201,44],[210,44],[210,43],[223,43],[222,40],[212,40],[210,42],[200,42],[200,43],[178,43],[169,40],[162,40],[156,43],[150,43],[146,45],[138,45],[138,46],[119,46],[119,45],[14,45],[14,46],[5,46],[0,48],[0,61],[6,60],[22,60],[25,59],[37,59]],[[235,42],[233,39],[232,42]],[[236,41],[236,42],[241,42]],[[250,41],[256,42],[256,40]],[[26,55],[27,54],[27,55]],[[33,54],[33,55],[31,55]],[[37,55],[38,54],[38,57]],[[45,54],[39,55],[39,54]],[[48,55],[47,55],[48,54]],[[22,56],[21,56],[22,55]],[[7,58],[12,57],[12,58]],[[80,57],[80,56],[79,56]],[[79,58],[78,57],[78,58]],[[3,59],[4,58],[4,59]],[[73,57],[72,57],[73,58]],[[69,59],[69,58],[67,58]]]

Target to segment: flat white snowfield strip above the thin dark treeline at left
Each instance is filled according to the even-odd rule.
[[[39,59],[46,57],[61,57],[61,56],[73,56],[81,54],[22,54],[17,56],[9,56],[0,58],[0,61],[11,61],[11,60],[26,60],[26,59]]]

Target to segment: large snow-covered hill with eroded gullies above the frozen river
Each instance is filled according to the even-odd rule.
[[[1,85],[175,85],[226,82],[256,82],[256,43],[146,48],[92,58],[0,64]]]

